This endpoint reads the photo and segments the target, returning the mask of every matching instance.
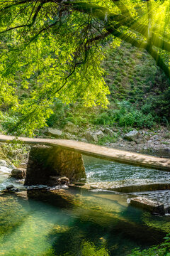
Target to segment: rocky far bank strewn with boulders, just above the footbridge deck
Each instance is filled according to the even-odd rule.
[[[130,132],[130,134],[129,134]],[[38,137],[72,139],[126,151],[170,157],[170,128],[131,129],[121,127],[80,128],[68,122],[64,129],[45,128]]]

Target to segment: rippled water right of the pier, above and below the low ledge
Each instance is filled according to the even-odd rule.
[[[127,164],[84,157],[87,181],[120,181],[124,186],[140,185],[145,183],[170,183],[170,173],[157,169],[147,169]],[[170,206],[170,191],[146,191],[132,193],[136,196],[145,196],[153,201]]]

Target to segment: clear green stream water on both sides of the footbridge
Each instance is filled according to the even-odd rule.
[[[131,178],[130,171],[133,178],[136,175],[140,178],[139,172],[142,179],[146,178],[144,171],[147,178],[153,178],[148,169],[94,159],[84,162],[89,181],[96,178],[107,181],[107,172],[109,181],[113,177]],[[160,178],[166,175],[158,172]],[[22,181],[8,179],[9,173],[8,169],[0,169],[0,188],[13,182],[22,188]],[[159,217],[132,208],[126,195],[100,191],[79,193],[70,189],[69,193],[77,198],[72,208],[57,208],[11,194],[0,196],[0,255],[79,256],[82,245],[93,242],[96,248],[106,245],[109,255],[125,256],[134,247],[143,249],[159,243],[170,232],[169,216]]]

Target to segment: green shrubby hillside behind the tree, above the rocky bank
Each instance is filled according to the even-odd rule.
[[[63,128],[70,121],[79,127],[108,125],[152,128],[169,124],[170,84],[145,50],[123,43],[113,50],[106,46],[103,61],[105,80],[110,88],[108,109],[63,105],[56,100],[54,114],[47,120],[49,127]]]

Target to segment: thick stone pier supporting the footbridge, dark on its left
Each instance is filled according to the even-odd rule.
[[[70,183],[86,181],[81,154],[54,146],[33,146],[30,149],[25,185],[46,185],[50,176],[66,176]]]

